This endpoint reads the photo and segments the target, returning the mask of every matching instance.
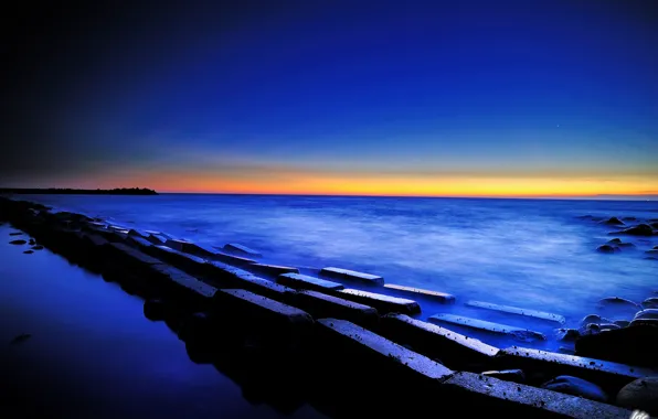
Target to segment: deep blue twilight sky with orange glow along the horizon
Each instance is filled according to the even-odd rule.
[[[652,0],[163,3],[3,14],[1,186],[658,194]]]

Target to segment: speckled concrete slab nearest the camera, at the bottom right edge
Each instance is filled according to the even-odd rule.
[[[632,411],[616,406],[527,386],[481,374],[457,373],[442,384],[447,400],[459,401],[448,407],[467,417],[507,418],[630,418]]]

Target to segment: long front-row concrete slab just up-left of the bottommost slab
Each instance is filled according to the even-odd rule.
[[[453,374],[444,365],[347,320],[320,319],[316,330],[318,350],[329,352],[331,357],[338,354],[351,374],[355,373],[353,368],[365,375],[376,372],[384,383],[414,389],[438,389],[441,382]]]

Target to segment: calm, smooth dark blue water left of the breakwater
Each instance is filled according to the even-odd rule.
[[[11,230],[0,226],[1,417],[323,417],[247,401],[216,367],[192,363],[166,323],[147,320],[139,298],[49,250],[24,255],[29,246],[8,244]]]

